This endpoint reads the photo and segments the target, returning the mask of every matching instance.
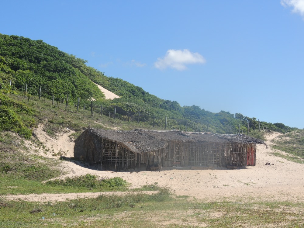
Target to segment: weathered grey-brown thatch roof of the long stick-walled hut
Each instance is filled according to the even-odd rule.
[[[83,135],[83,136],[82,136]],[[86,135],[86,136],[85,136]],[[168,142],[202,142],[202,143],[241,143],[241,144],[264,144],[259,139],[240,135],[219,135],[214,133],[188,133],[181,131],[155,131],[135,129],[132,131],[114,131],[88,128],[82,137],[98,136],[103,139],[116,142],[134,153],[145,153],[163,149]],[[81,137],[79,136],[79,137]],[[80,140],[80,139],[79,139]],[[76,146],[76,144],[75,144]]]

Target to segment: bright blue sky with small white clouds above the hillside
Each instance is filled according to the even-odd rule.
[[[304,0],[3,1],[0,33],[162,99],[304,128]]]

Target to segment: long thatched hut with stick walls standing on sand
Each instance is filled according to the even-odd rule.
[[[88,128],[75,140],[74,157],[116,170],[135,169],[141,163],[242,167],[255,165],[256,144],[265,143],[240,135]]]

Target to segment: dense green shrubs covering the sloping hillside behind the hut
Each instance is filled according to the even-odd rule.
[[[106,100],[92,81],[120,98]],[[51,100],[54,96],[54,108],[65,103],[68,95],[67,106],[76,107],[79,97],[81,109],[89,110],[94,98],[92,109],[95,112],[101,112],[102,107],[104,114],[114,118],[115,108],[116,119],[134,123],[139,120],[138,127],[143,128],[164,129],[166,126],[167,130],[186,130],[187,123],[188,131],[235,134],[239,125],[241,132],[247,133],[249,123],[250,131],[258,129],[256,118],[225,111],[213,113],[196,105],[181,107],[176,101],[158,98],[120,78],[107,77],[87,66],[85,60],[42,40],[22,36],[0,34],[0,84],[0,130],[12,130],[27,137],[37,110],[8,94],[39,96],[40,88],[41,97]],[[282,123],[261,121],[260,125],[283,133],[296,129]]]

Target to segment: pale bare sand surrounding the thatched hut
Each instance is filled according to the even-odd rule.
[[[43,134],[42,134],[43,135]],[[271,140],[279,133],[267,135],[266,144],[257,145],[256,166],[249,166],[240,169],[227,169],[214,167],[208,170],[181,170],[173,168],[162,171],[129,171],[113,172],[98,171],[76,164],[74,161],[63,161],[61,166],[68,172],[64,176],[95,174],[101,178],[111,178],[119,176],[132,184],[131,188],[140,187],[146,184],[158,183],[159,186],[170,188],[177,195],[190,195],[197,199],[219,198],[230,196],[253,196],[264,199],[280,200],[302,200],[304,196],[304,173],[303,164],[293,163],[284,158],[271,155],[274,150],[271,148]],[[44,137],[44,136],[43,136]],[[60,137],[64,142],[58,143],[58,147],[64,145],[64,150],[68,150],[67,156],[73,156],[73,143],[68,138]],[[42,136],[40,140],[43,140]],[[56,143],[47,140],[48,147]],[[57,144],[56,144],[57,145]],[[53,146],[54,147],[54,146]],[[283,152],[282,152],[283,153]],[[47,155],[46,155],[47,156]],[[271,165],[265,165],[270,162]],[[63,176],[63,177],[64,177]],[[92,197],[100,193],[76,193],[78,197]],[[11,198],[13,197],[13,198]],[[43,194],[35,199],[58,200],[71,199],[75,194]],[[31,199],[30,195],[10,196],[8,199]]]

